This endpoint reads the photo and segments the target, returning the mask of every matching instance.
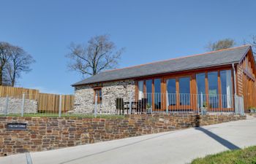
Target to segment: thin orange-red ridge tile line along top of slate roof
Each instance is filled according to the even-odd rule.
[[[170,58],[170,59],[166,59],[166,60],[159,60],[159,61],[154,61],[154,62],[149,62],[149,63],[143,63],[143,64],[138,64],[136,66],[127,66],[124,68],[120,68],[120,69],[129,69],[129,68],[134,68],[134,67],[138,67],[138,66],[145,66],[151,63],[161,63],[161,62],[165,62],[165,61],[169,61],[169,60],[177,60],[180,58],[189,58],[189,57],[194,57],[194,56],[198,56],[198,55],[207,55],[207,54],[211,54],[214,52],[222,52],[222,51],[227,51],[227,50],[233,50],[233,49],[237,49],[237,48],[241,48],[241,47],[247,47],[247,46],[251,46],[250,44],[244,44],[238,47],[230,47],[230,48],[226,48],[226,49],[222,49],[222,50],[215,50],[215,51],[211,51],[211,52],[203,52],[203,53],[199,53],[199,54],[194,54],[194,55],[186,55],[186,56],[181,56],[178,58]],[[106,70],[106,71],[102,71],[102,72],[108,72],[108,71],[116,71],[116,70],[120,70],[120,69],[111,69],[111,70]]]

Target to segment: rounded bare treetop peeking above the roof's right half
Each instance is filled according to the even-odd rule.
[[[206,50],[208,51],[222,50],[222,49],[233,47],[234,45],[236,45],[236,42],[234,39],[221,39],[217,42],[209,42],[208,45],[206,45]]]

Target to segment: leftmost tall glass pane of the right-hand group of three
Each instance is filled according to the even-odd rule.
[[[197,106],[202,108],[206,107],[206,74],[196,74],[197,81]]]

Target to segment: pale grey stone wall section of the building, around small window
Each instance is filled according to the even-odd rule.
[[[94,113],[94,87],[102,87],[102,104],[97,105],[100,114],[116,113],[116,98],[129,101],[129,96],[135,98],[135,81],[124,80],[118,82],[104,82],[94,85],[75,87],[74,113]]]

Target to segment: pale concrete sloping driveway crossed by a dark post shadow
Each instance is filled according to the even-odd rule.
[[[124,138],[45,152],[31,152],[33,164],[189,163],[196,157],[256,145],[256,118],[201,128]],[[28,155],[1,157],[0,163],[27,163]]]

